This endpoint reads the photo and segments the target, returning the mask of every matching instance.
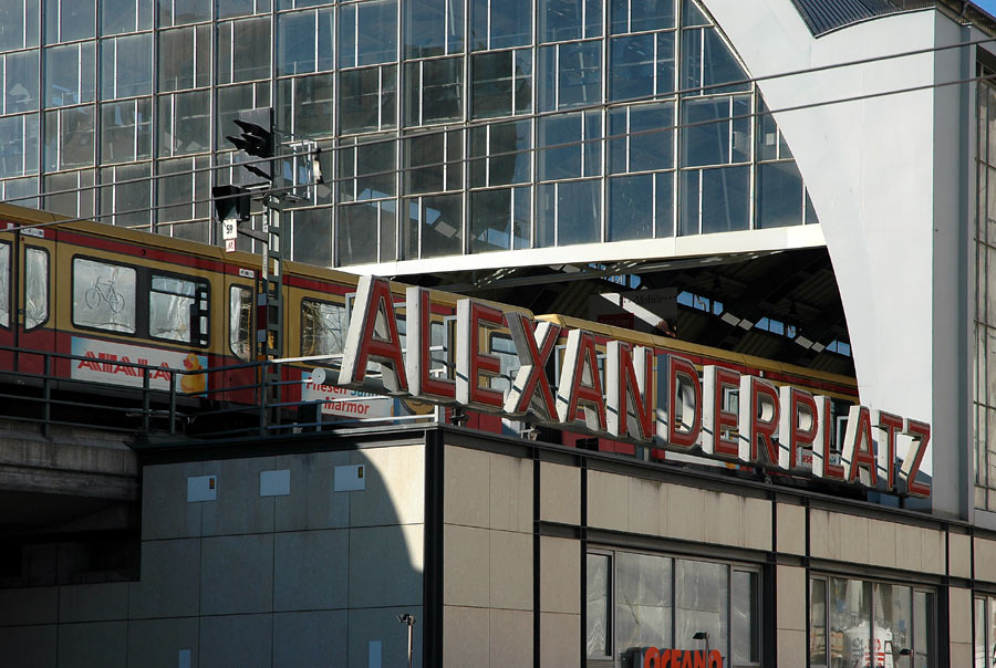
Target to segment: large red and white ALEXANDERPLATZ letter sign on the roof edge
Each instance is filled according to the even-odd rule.
[[[430,305],[427,289],[407,289],[405,351],[388,282],[361,278],[339,385],[901,495],[931,494],[930,483],[917,480],[927,422],[851,406],[834,463],[830,397],[716,365],[705,365],[699,378],[685,357],[614,340],[605,345],[602,387],[595,336],[584,330],[566,332],[560,378],[551,387],[546,368],[562,328],[476,300],[457,302],[456,377],[434,377]],[[485,345],[489,331],[506,327],[521,364],[507,395],[486,384],[500,364]],[[383,387],[366,382],[367,362],[383,366]],[[736,411],[723,401],[729,390],[739,392]],[[812,452],[811,469],[802,465],[803,449]]]

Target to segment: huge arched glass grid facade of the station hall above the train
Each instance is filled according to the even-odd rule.
[[[694,0],[0,0],[0,24],[17,203],[215,242],[231,119],[273,107],[331,175],[284,226],[304,262],[816,222]]]

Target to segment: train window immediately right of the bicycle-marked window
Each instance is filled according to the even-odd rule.
[[[207,283],[152,275],[148,333],[155,338],[207,343]]]

